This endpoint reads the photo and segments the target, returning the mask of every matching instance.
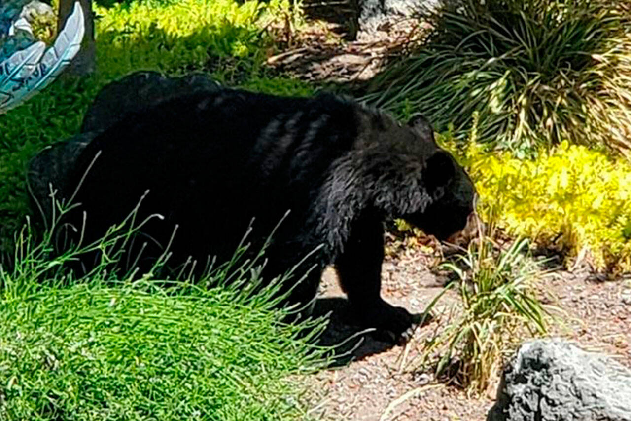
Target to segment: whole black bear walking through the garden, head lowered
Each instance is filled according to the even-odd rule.
[[[401,217],[444,240],[464,228],[475,197],[422,117],[401,125],[330,94],[230,88],[176,95],[97,131],[69,174],[68,185],[79,184],[74,202],[86,212],[84,241],[122,221],[148,190],[137,219],[164,219],[140,235],[150,247],[163,246],[177,224],[170,262],[227,260],[252,218],[260,245],[257,238],[290,210],[266,251],[264,276],[282,274],[323,245],[310,260],[318,269],[290,300],[312,300],[321,271],[333,264],[360,324],[397,337],[413,316],[380,297],[384,221]],[[80,212],[67,222],[81,226]]]

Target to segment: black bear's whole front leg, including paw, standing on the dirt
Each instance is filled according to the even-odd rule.
[[[375,327],[380,338],[399,341],[420,317],[381,298],[384,260],[383,226],[379,219],[362,218],[351,229],[343,252],[335,260],[339,283],[348,296],[353,318]]]

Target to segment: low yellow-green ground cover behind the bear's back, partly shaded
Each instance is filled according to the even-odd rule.
[[[137,70],[203,71],[225,85],[272,94],[314,91],[307,82],[263,66],[266,51],[274,48],[269,25],[297,13],[288,1],[131,1],[95,6],[95,11],[96,73],[79,80],[61,76],[22,106],[0,114],[0,252],[10,252],[13,234],[29,214],[28,160],[45,145],[74,135],[106,83]]]

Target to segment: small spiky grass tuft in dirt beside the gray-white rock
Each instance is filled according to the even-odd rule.
[[[548,312],[533,289],[544,272],[527,250],[528,240],[501,250],[480,235],[455,262],[442,265],[457,277],[461,306],[452,308],[444,329],[427,338],[422,365],[433,364],[439,377],[481,393],[520,339],[546,333]]]

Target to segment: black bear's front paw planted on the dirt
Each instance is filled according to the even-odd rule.
[[[403,307],[379,302],[351,306],[353,315],[362,327],[374,327],[375,339],[389,343],[405,343],[416,326],[422,323],[422,314],[410,314]]]

